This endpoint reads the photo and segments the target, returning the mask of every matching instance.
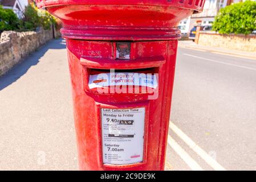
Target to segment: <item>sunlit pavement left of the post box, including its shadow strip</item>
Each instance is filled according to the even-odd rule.
[[[62,39],[0,77],[0,136],[0,170],[78,169]]]

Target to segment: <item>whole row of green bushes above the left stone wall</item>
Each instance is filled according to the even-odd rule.
[[[49,30],[51,24],[56,26],[56,19],[47,11],[39,10],[34,3],[28,5],[24,11],[24,18],[18,19],[11,9],[3,9],[0,6],[0,32],[6,30],[30,31],[37,27]]]

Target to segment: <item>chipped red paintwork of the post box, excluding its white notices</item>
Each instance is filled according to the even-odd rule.
[[[202,11],[204,0],[37,0],[63,22],[74,100],[74,118],[82,170],[163,170],[170,118],[177,39],[181,19]],[[116,43],[129,42],[129,60],[118,59]],[[117,52],[118,53],[118,52]],[[127,52],[121,50],[121,56]],[[122,58],[123,58],[122,57]],[[152,92],[99,93],[88,87],[90,75],[117,69],[157,73],[159,96]],[[98,80],[103,81],[103,80]],[[111,86],[107,88],[109,91]],[[141,89],[141,88],[139,88]],[[103,164],[101,108],[145,107],[143,162]],[[134,146],[136,147],[136,145]],[[139,155],[132,156],[140,157]]]

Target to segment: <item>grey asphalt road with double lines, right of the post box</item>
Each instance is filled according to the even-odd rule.
[[[174,170],[256,170],[256,60],[179,48],[171,114]]]

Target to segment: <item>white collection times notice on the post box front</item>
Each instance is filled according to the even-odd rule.
[[[145,108],[101,108],[104,164],[143,162]]]

